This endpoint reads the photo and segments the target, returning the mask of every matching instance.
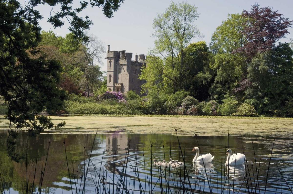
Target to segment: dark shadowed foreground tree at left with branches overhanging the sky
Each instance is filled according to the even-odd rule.
[[[77,16],[88,4],[102,6],[106,17],[120,7],[123,0],[81,2],[77,9],[72,8],[73,1],[29,1],[22,7],[16,0],[0,2],[0,95],[8,105],[7,119],[16,128],[28,128],[40,133],[52,128],[51,120],[38,116],[42,110],[53,113],[61,109],[65,92],[57,87],[62,71],[61,64],[48,59],[39,49],[41,41],[40,26],[42,19],[36,7],[48,4],[61,6],[59,12],[52,12],[48,21],[54,27],[64,25],[62,18],[70,21],[69,30],[74,38],[88,40],[84,30],[92,22]],[[57,43],[54,43],[57,44]],[[54,45],[53,44],[53,45]]]

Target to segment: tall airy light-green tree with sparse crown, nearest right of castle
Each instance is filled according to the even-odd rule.
[[[164,13],[159,13],[153,22],[155,49],[164,58],[168,81],[175,91],[180,90],[183,80],[184,48],[191,39],[201,37],[194,25],[199,17],[197,7],[186,2],[175,4],[173,1]]]

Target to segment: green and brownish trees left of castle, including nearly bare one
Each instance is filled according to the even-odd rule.
[[[52,31],[42,31],[41,37],[40,48],[46,57],[59,61],[62,66],[60,88],[87,97],[106,91],[104,72],[100,71],[105,45],[98,37],[87,34],[89,40],[83,42],[73,33],[61,37]]]

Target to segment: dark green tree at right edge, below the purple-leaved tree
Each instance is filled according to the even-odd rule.
[[[276,117],[292,117],[293,51],[289,44],[275,46],[255,56],[248,68],[252,88],[247,96],[257,101],[258,112]]]

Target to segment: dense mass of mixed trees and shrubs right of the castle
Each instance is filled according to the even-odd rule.
[[[140,76],[154,113],[292,117],[293,51],[278,40],[293,22],[256,3],[228,14],[208,47],[190,43],[201,36],[198,16],[172,2],[154,19],[155,47]]]

